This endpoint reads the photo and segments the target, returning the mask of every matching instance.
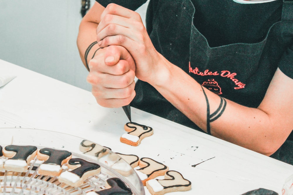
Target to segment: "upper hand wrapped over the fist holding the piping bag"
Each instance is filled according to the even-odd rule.
[[[146,82],[156,79],[156,65],[165,58],[154,48],[138,13],[109,4],[96,32],[100,47],[120,45],[130,52],[136,64],[137,78]]]

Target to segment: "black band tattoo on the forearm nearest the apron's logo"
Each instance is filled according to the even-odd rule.
[[[203,89],[202,86],[200,86],[202,88],[202,92],[203,94],[205,95],[205,100],[207,101],[207,133],[209,135],[211,135],[211,127],[210,127],[210,122],[213,122],[215,120],[217,120],[223,113],[224,113],[224,110],[226,109],[226,100],[222,97],[220,97],[221,99],[221,102],[220,102],[220,105],[219,107],[217,108],[216,111],[214,111],[214,113],[212,113],[211,115],[209,114],[210,111],[209,111],[209,99],[207,99],[207,94],[205,93],[205,90]]]

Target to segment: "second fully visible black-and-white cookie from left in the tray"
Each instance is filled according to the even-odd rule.
[[[40,175],[58,176],[62,172],[62,165],[72,157],[71,152],[42,148],[38,151],[37,158],[45,161],[39,166]]]

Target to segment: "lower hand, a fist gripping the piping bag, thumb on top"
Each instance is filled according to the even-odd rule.
[[[122,46],[108,46],[90,60],[87,82],[98,104],[108,108],[128,105],[135,96],[135,63]]]

